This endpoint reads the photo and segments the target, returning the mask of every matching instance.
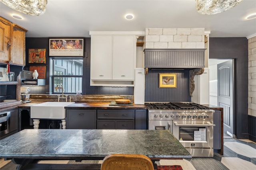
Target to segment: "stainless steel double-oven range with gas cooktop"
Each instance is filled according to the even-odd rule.
[[[193,157],[213,157],[214,110],[192,102],[147,102],[148,129],[167,129]]]

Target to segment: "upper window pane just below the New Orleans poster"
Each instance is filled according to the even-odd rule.
[[[54,59],[54,75],[83,75],[82,59]]]

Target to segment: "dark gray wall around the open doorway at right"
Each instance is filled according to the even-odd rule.
[[[209,42],[209,59],[235,59],[234,132],[238,139],[248,139],[248,40],[210,38]]]

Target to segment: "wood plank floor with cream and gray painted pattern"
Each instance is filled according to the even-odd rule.
[[[102,160],[49,160],[39,163],[52,164],[101,164]],[[250,140],[224,139],[224,154],[214,158],[193,157],[189,160],[160,160],[158,165],[180,165],[183,170],[253,170],[256,169],[256,143]],[[16,170],[10,160],[0,160],[0,170]]]

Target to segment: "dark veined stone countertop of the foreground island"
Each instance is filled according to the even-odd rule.
[[[103,159],[112,153],[191,158],[168,130],[24,129],[2,139],[0,151],[2,158]]]

